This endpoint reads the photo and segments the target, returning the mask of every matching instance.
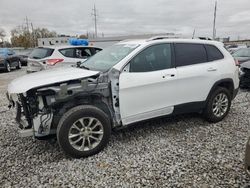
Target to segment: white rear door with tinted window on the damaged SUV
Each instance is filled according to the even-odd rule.
[[[179,76],[177,104],[205,101],[216,81],[216,61],[209,61],[203,44],[176,43],[175,61]]]

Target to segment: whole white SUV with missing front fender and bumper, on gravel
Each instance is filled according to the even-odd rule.
[[[198,112],[221,121],[238,92],[239,69],[215,41],[151,38],[105,48],[80,68],[28,74],[8,86],[23,136],[55,135],[72,157],[100,152],[111,130]]]

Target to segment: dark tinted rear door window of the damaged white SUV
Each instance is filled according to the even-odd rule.
[[[176,43],[176,66],[186,66],[207,62],[207,53],[203,44]]]

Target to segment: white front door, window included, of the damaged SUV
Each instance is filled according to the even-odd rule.
[[[119,78],[123,125],[173,112],[178,75],[172,63],[171,44],[144,49],[125,69]]]

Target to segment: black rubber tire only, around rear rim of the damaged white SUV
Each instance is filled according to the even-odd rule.
[[[215,98],[219,97],[219,95],[222,94],[223,96],[225,96],[227,98],[227,102],[225,102],[225,104],[227,103],[227,108],[225,109],[224,112],[221,112],[222,114],[220,116],[216,116],[215,112],[213,111],[214,109],[214,102],[215,102]],[[218,87],[210,96],[209,99],[207,101],[207,105],[203,111],[203,116],[204,118],[208,121],[208,122],[212,122],[212,123],[216,123],[221,121],[222,119],[224,119],[231,107],[231,100],[232,100],[232,96],[230,95],[230,92],[226,89],[226,88],[222,88],[222,87]]]

